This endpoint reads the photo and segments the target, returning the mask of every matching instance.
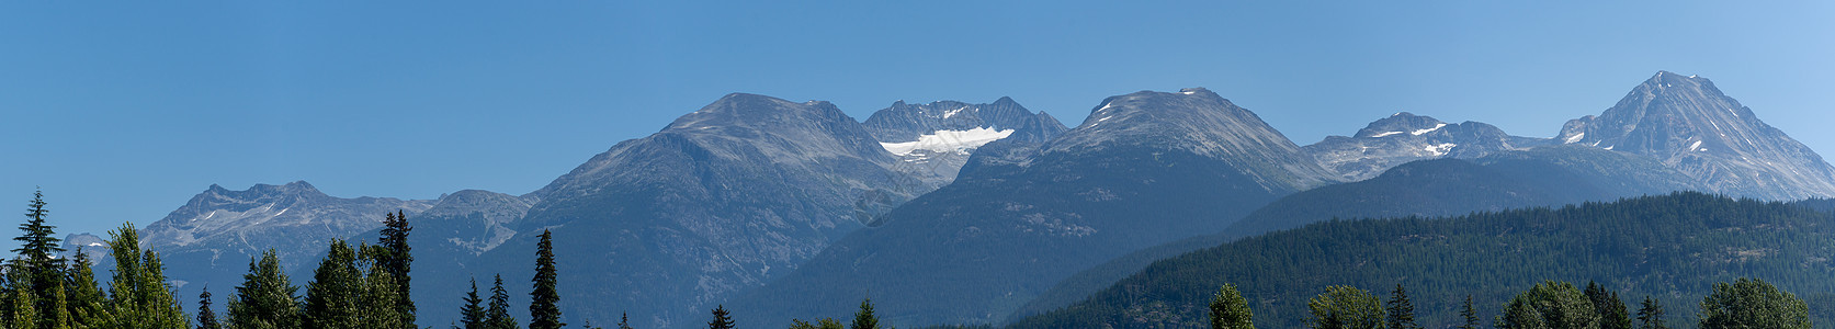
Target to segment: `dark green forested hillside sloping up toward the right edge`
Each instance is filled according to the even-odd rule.
[[[1453,219],[1332,221],[1158,261],[1072,307],[1015,327],[1200,327],[1217,287],[1233,283],[1259,327],[1303,327],[1329,285],[1406,285],[1420,323],[1448,327],[1472,296],[1490,320],[1543,279],[1598,281],[1626,303],[1672,305],[1692,323],[1714,283],[1760,278],[1796,292],[1811,320],[1835,311],[1835,217],[1784,202],[1703,193],[1475,213]]]

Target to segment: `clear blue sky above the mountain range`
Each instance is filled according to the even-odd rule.
[[[1077,125],[1207,86],[1312,143],[1398,110],[1552,136],[1657,70],[1835,154],[1831,2],[15,0],[0,215],[33,186],[95,233],[209,184],[519,195],[728,92],[857,119],[1011,96]]]

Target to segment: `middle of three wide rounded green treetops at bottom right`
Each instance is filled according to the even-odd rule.
[[[1563,281],[1536,283],[1529,290],[1510,298],[1501,316],[1499,329],[1598,329],[1600,314],[1587,301],[1587,296]]]

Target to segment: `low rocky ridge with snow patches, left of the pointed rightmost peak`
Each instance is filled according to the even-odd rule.
[[[1343,180],[1367,180],[1389,167],[1431,158],[1479,158],[1549,143],[1519,138],[1479,121],[1446,123],[1429,116],[1398,112],[1376,119],[1354,136],[1327,136],[1303,147],[1319,165]]]

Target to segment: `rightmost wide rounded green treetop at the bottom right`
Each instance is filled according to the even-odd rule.
[[[1714,292],[1701,298],[1699,314],[1701,329],[1809,329],[1809,307],[1804,300],[1762,279],[1714,283]]]

